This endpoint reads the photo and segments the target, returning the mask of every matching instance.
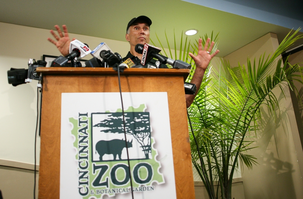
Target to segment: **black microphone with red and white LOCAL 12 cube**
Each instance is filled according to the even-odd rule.
[[[190,69],[191,64],[183,62],[181,60],[174,60],[163,55],[158,54],[161,49],[151,46],[149,44],[137,44],[135,46],[135,51],[139,54],[142,54],[141,64],[145,65],[148,63],[153,57],[157,58],[161,64],[169,64],[175,69]],[[144,59],[144,60],[143,60]]]

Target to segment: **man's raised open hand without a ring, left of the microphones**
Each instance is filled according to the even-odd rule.
[[[55,25],[55,28],[58,31],[58,34],[60,37],[58,37],[58,35],[55,34],[55,32],[53,30],[51,30],[51,34],[55,37],[55,39],[57,41],[52,40],[51,38],[47,38],[48,41],[52,42],[53,44],[55,44],[58,48],[58,50],[61,52],[61,54],[63,56],[68,55],[69,53],[69,43],[71,42],[71,40],[69,39],[68,36],[68,31],[66,28],[66,25],[62,25],[63,28],[63,32],[61,32],[61,29],[58,25]],[[74,41],[76,38],[73,38],[72,41]]]

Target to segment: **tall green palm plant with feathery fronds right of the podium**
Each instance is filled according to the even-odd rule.
[[[231,184],[235,170],[239,165],[252,169],[257,164],[254,156],[248,155],[251,142],[245,141],[250,132],[257,132],[258,121],[261,121],[260,106],[265,105],[272,112],[279,106],[274,88],[279,87],[284,94],[283,84],[294,88],[293,81],[302,82],[302,76],[297,72],[303,71],[298,64],[290,65],[287,60],[277,58],[303,35],[288,33],[278,49],[272,54],[263,56],[251,62],[247,59],[247,67],[231,67],[227,60],[221,59],[222,67],[218,71],[208,66],[201,87],[194,102],[188,108],[191,156],[210,199],[231,199]],[[183,32],[182,32],[183,35]],[[296,36],[297,35],[297,36]],[[166,42],[169,55],[177,59],[176,39],[174,33],[175,57],[172,56],[168,37]],[[200,37],[201,38],[201,37]],[[204,46],[207,35],[202,38]],[[158,36],[157,36],[158,39]],[[193,64],[187,81],[190,82],[195,71],[195,64],[188,56],[191,52],[197,54],[198,41],[188,41],[185,38],[184,47],[180,42],[179,59]],[[187,42],[188,41],[188,42]],[[218,35],[211,41],[215,42],[212,52],[218,46]],[[151,40],[155,45],[155,43]],[[163,49],[161,41],[158,39]],[[182,52],[183,50],[183,52]],[[163,49],[165,56],[167,53]],[[275,114],[272,114],[273,116]],[[218,182],[216,185],[215,181]]]

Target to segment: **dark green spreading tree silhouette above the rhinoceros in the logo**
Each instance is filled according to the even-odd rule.
[[[144,151],[145,158],[149,158],[151,153],[151,130],[149,123],[148,112],[126,112],[125,118],[125,133],[132,135],[140,143]],[[105,120],[95,124],[94,127],[104,127],[101,130],[105,133],[124,133],[122,113],[108,113]]]

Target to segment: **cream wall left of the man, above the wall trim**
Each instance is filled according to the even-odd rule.
[[[129,43],[97,37],[69,34],[87,43],[91,49],[106,42],[114,51],[126,56]],[[47,38],[49,30],[0,22],[0,159],[34,164],[37,81],[8,84],[7,70],[28,68],[29,58],[41,59],[43,54],[59,56],[60,52]],[[91,55],[84,59],[90,59]],[[40,139],[37,137],[37,164]]]

